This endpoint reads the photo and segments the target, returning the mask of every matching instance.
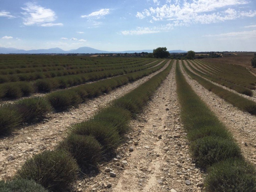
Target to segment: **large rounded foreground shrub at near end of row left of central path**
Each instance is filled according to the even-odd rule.
[[[65,190],[77,178],[76,161],[65,151],[44,151],[28,159],[15,178],[35,180],[52,191]]]

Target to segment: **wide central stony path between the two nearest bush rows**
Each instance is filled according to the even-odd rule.
[[[201,191],[196,186],[202,180],[201,173],[188,155],[186,133],[180,123],[175,63],[131,126],[128,142],[118,149],[120,154],[102,165],[97,177],[81,180],[77,190],[105,191],[111,184],[110,191],[114,192]],[[116,177],[105,172],[108,167]]]

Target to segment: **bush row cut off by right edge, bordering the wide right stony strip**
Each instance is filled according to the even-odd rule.
[[[196,81],[198,81],[208,91],[212,91],[213,93],[218,95],[220,98],[225,99],[226,101],[233,104],[234,106],[237,106],[239,109],[243,111],[246,111],[250,114],[256,114],[256,103],[254,101],[244,98],[236,93],[233,93],[232,91],[223,89],[222,87],[217,86],[211,83],[210,81],[196,75],[185,66],[183,61],[182,61],[182,65],[185,71],[189,74],[189,76],[195,79]]]

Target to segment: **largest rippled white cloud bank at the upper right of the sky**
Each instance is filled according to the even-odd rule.
[[[170,3],[171,1],[167,1]],[[180,23],[217,23],[225,20],[236,19],[240,17],[254,17],[256,11],[239,11],[232,8],[227,8],[224,11],[217,11],[227,6],[243,5],[249,3],[245,0],[193,0],[192,3],[184,1],[180,6],[180,1],[175,1],[175,4],[165,4],[161,7],[150,7],[142,12],[137,12],[136,17],[143,19],[151,17],[153,21],[160,20],[179,20]],[[213,12],[213,13],[212,13]]]

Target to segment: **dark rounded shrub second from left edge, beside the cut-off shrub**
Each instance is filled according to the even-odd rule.
[[[41,97],[27,98],[15,103],[15,107],[22,115],[24,122],[31,122],[43,118],[51,111],[50,103]]]

